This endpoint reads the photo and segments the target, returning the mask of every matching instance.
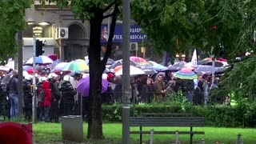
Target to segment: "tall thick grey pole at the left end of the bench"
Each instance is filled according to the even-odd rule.
[[[130,0],[122,0],[122,144],[130,144]]]

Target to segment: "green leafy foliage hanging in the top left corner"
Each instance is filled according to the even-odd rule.
[[[26,26],[25,10],[30,8],[32,0],[0,1],[0,65],[6,64],[8,58],[14,58],[18,44],[15,34]]]

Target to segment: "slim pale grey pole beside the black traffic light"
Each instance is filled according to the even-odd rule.
[[[35,41],[33,37],[33,99],[32,99],[32,122],[37,122],[37,86],[35,83]]]

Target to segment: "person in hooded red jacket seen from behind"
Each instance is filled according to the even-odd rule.
[[[49,122],[50,99],[50,82],[43,81],[42,87],[38,90],[39,121]]]

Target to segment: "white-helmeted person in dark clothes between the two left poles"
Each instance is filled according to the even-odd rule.
[[[32,78],[33,76],[31,74],[26,74],[25,78],[23,79],[24,112],[25,118],[29,121],[32,120]]]

